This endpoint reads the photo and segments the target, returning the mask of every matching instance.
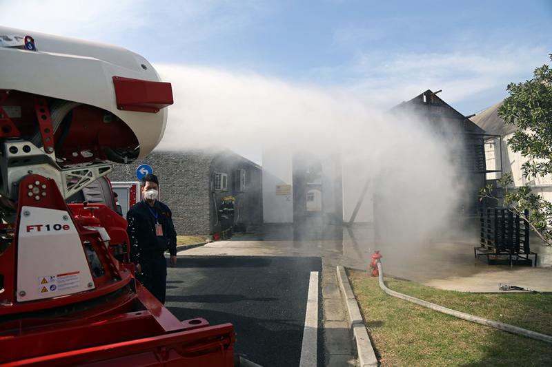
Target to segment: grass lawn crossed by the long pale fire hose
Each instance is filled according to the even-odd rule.
[[[392,297],[366,272],[349,271],[349,279],[382,366],[552,366],[552,344]],[[385,282],[422,300],[552,335],[551,294],[462,293],[391,277]]]

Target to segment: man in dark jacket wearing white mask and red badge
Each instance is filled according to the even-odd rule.
[[[130,259],[136,264],[138,280],[165,303],[167,262],[164,253],[170,253],[170,265],[177,263],[177,233],[172,224],[172,213],[159,195],[159,180],[154,174],[142,179],[144,200],[132,207],[127,215]]]

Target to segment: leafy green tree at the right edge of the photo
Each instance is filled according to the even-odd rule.
[[[552,61],[552,54],[549,54]],[[525,178],[552,174],[552,69],[542,65],[535,69],[533,79],[523,83],[510,83],[509,96],[498,109],[498,116],[506,124],[515,125],[516,132],[508,140],[515,152],[528,160],[522,165]],[[498,180],[504,189],[504,206],[525,218],[533,231],[552,245],[552,203],[536,195],[529,185],[515,189],[511,174]],[[480,190],[481,198],[495,198],[492,185]]]

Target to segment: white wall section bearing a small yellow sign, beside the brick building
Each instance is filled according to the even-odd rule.
[[[276,192],[278,185],[293,185],[290,149],[264,149],[262,166],[264,222],[293,223],[293,191],[288,195]]]

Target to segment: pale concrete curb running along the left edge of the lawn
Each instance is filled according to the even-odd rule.
[[[342,301],[347,308],[349,327],[355,339],[359,367],[379,366],[370,337],[368,337],[368,331],[362,320],[357,300],[353,294],[353,289],[351,289],[345,269],[341,265],[337,265],[337,283],[341,291]]]

